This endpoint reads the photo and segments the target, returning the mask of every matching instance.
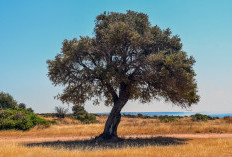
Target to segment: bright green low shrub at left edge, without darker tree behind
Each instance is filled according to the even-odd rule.
[[[24,109],[6,109],[0,111],[0,130],[29,130],[35,125],[49,125],[50,121],[39,118]]]

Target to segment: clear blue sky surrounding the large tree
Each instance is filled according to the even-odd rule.
[[[148,14],[152,25],[171,28],[183,50],[196,59],[201,101],[192,111],[232,112],[231,0],[0,0],[0,91],[36,112],[62,105],[46,76],[47,59],[64,39],[93,35],[95,17],[104,11]],[[110,108],[86,104],[89,112]],[[129,102],[123,111],[185,111],[171,103]]]

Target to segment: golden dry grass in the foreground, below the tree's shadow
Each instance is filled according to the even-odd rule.
[[[126,147],[120,149],[68,150],[50,147],[26,147],[16,142],[0,142],[1,157],[74,157],[74,156],[163,156],[163,157],[229,157],[232,138],[193,139],[184,145]]]

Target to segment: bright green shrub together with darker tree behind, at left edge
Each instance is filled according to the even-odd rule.
[[[49,126],[50,121],[38,117],[33,112],[33,109],[26,108],[24,103],[18,104],[10,94],[0,93],[0,130],[25,131],[35,125]]]

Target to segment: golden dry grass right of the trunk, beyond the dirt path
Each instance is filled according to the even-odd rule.
[[[120,124],[119,134],[183,134],[183,133],[231,133],[232,124],[223,119],[193,122],[190,118],[178,122],[160,123],[158,120],[140,119]]]

